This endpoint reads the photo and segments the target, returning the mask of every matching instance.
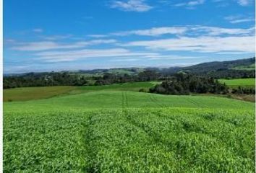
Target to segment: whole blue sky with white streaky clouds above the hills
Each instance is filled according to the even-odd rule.
[[[254,0],[4,0],[4,73],[254,55]]]

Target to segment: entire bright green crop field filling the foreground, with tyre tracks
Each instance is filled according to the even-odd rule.
[[[255,172],[255,106],[108,90],[4,102],[4,172]]]

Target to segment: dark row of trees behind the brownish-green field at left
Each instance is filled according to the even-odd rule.
[[[42,73],[25,74],[22,76],[5,76],[4,89],[26,87],[26,86],[82,86],[89,85],[88,81],[93,80],[94,85],[119,84],[132,81],[154,81],[158,80],[160,74],[155,71],[142,71],[137,75],[129,74],[110,74],[103,76],[88,76],[81,74],[63,73]]]

